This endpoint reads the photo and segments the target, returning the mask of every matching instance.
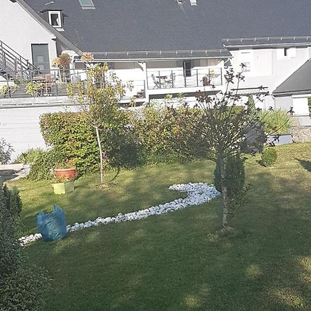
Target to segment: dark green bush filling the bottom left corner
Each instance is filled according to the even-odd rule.
[[[7,196],[19,198],[18,191],[12,194],[0,185],[0,310],[39,311],[50,285],[45,272],[28,266],[23,258],[21,245],[17,243],[18,221],[11,214],[19,204],[9,210]]]

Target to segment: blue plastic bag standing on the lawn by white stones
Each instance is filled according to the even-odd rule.
[[[37,216],[37,227],[44,241],[56,241],[66,236],[66,216],[65,212],[54,205],[54,211],[44,213],[40,211]]]

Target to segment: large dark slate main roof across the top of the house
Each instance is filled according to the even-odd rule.
[[[176,0],[93,0],[95,10],[82,10],[79,0],[25,1],[37,12],[63,10],[62,35],[80,50],[102,55],[214,51],[210,57],[225,55],[226,38],[311,35],[310,0],[197,0],[197,6],[190,0],[182,5]]]

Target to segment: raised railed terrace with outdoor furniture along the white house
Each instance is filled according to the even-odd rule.
[[[118,70],[115,70],[118,75]],[[2,79],[1,79],[2,77]],[[12,68],[0,77],[0,107],[43,105],[46,103],[68,102],[68,84],[83,82],[85,70],[39,70],[39,68]],[[135,77],[135,75],[133,75]],[[202,87],[220,89],[223,85],[222,68],[161,68],[147,69],[144,79],[126,80],[131,89],[126,90],[122,103],[135,98],[138,104],[147,102],[151,95],[190,93]],[[66,98],[65,98],[66,97]]]

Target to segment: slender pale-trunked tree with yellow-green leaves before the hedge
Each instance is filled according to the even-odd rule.
[[[67,87],[68,95],[79,104],[79,111],[85,122],[95,129],[100,158],[100,181],[104,185],[104,168],[108,163],[108,154],[103,149],[102,135],[109,135],[114,128],[120,126],[122,110],[120,100],[126,88],[131,84],[123,84],[115,73],[109,72],[107,64],[90,66],[90,53],[82,56],[86,62],[86,81],[71,84]]]

